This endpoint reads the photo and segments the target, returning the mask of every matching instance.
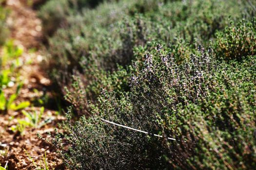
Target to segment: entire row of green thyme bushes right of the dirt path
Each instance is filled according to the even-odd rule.
[[[256,166],[256,24],[247,1],[117,0],[67,10],[48,38],[47,64],[74,106],[52,140],[68,168]],[[73,112],[84,116],[74,122]]]

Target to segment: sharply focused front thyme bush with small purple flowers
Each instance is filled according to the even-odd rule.
[[[171,54],[147,53],[130,77],[130,90],[102,91],[93,117],[67,120],[66,152],[53,140],[70,169],[252,169],[255,160],[256,56],[241,63],[216,60],[213,50],[176,65]],[[156,57],[157,58],[157,57]],[[166,137],[105,124],[108,119]],[[246,142],[241,142],[246,141]],[[249,149],[250,148],[250,149]],[[246,151],[246,152],[245,152]]]

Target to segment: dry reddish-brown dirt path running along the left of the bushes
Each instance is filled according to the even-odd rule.
[[[14,40],[15,45],[22,47],[24,50],[20,56],[24,64],[18,70],[24,85],[17,101],[18,103],[22,101],[33,103],[43,93],[47,93],[50,97],[52,93],[45,91],[51,85],[51,82],[39,65],[43,59],[43,52],[40,50],[42,39],[41,21],[36,12],[25,1],[7,0],[6,7],[11,11],[7,24],[10,28],[10,38]],[[30,52],[31,49],[37,50]],[[35,92],[34,89],[37,89],[38,92]],[[12,89],[5,91],[7,95],[13,92]],[[25,110],[39,111],[39,109],[40,107],[30,106]],[[37,166],[45,169],[42,155],[46,153],[46,161],[50,170],[63,169],[55,149],[37,137],[37,133],[47,137],[47,132],[54,131],[57,123],[63,120],[63,117],[57,115],[55,110],[45,108],[42,119],[52,119],[52,121],[40,128],[27,127],[23,135],[19,132],[14,133],[11,130],[13,125],[17,125],[18,119],[25,119],[21,111],[9,110],[6,114],[0,114],[1,166],[8,165],[8,170],[35,170]],[[33,163],[32,159],[35,163]]]

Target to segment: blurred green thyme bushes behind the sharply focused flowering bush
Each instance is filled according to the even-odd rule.
[[[56,11],[52,6],[56,5],[42,9]],[[180,64],[196,52],[198,44],[209,45],[217,30],[229,24],[229,16],[236,21],[254,15],[247,3],[237,0],[119,0],[74,10],[68,10],[63,28],[48,38],[47,63],[67,101],[87,115],[87,103],[96,102],[100,87],[129,89],[126,78],[131,75],[132,60],[140,64],[146,51],[156,53],[157,43],[167,47],[165,52],[173,53]],[[117,73],[119,81],[115,82]],[[73,76],[80,81],[78,88],[74,88]]]

